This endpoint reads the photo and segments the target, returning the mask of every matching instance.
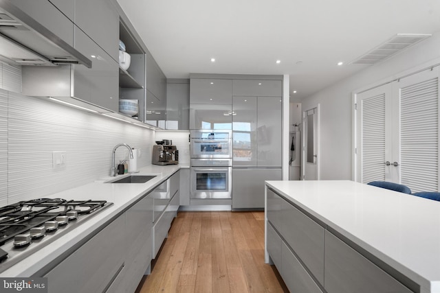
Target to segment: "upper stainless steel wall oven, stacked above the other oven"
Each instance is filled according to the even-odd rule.
[[[191,159],[232,158],[231,130],[190,130]]]

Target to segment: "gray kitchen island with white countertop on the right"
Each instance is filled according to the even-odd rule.
[[[298,292],[440,292],[440,202],[331,181],[266,181],[265,261]]]

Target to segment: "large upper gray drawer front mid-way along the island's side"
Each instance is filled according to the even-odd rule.
[[[316,279],[324,283],[324,228],[283,200],[281,235]]]

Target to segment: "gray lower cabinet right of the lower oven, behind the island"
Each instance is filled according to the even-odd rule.
[[[232,209],[263,209],[265,180],[281,180],[281,169],[232,168]]]

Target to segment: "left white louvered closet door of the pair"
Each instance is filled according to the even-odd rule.
[[[356,180],[392,180],[386,157],[391,151],[391,84],[356,97]]]

